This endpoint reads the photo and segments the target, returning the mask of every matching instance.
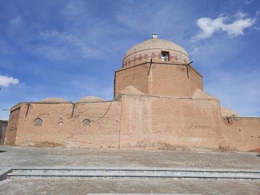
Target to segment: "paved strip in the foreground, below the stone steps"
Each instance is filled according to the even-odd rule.
[[[3,182],[3,181],[2,181]],[[7,182],[7,181],[5,181]],[[253,181],[172,181],[172,180],[9,180],[0,194],[86,194],[86,193],[200,193],[259,194],[260,182]]]

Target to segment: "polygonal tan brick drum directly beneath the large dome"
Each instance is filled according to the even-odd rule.
[[[188,72],[189,78],[186,66],[167,62],[146,62],[121,69],[115,75],[115,94],[132,85],[145,94],[190,97],[197,88],[203,90],[203,84],[202,77],[191,67]]]

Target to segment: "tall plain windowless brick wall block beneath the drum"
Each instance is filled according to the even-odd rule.
[[[120,147],[210,149],[222,140],[219,102],[123,95]]]

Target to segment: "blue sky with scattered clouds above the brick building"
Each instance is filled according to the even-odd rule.
[[[19,102],[113,98],[125,52],[181,45],[221,106],[260,116],[260,1],[0,1],[0,119]]]

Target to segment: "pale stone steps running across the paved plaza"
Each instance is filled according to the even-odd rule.
[[[18,167],[9,179],[199,179],[256,180],[259,170],[165,169],[165,168],[80,168],[80,167]]]

